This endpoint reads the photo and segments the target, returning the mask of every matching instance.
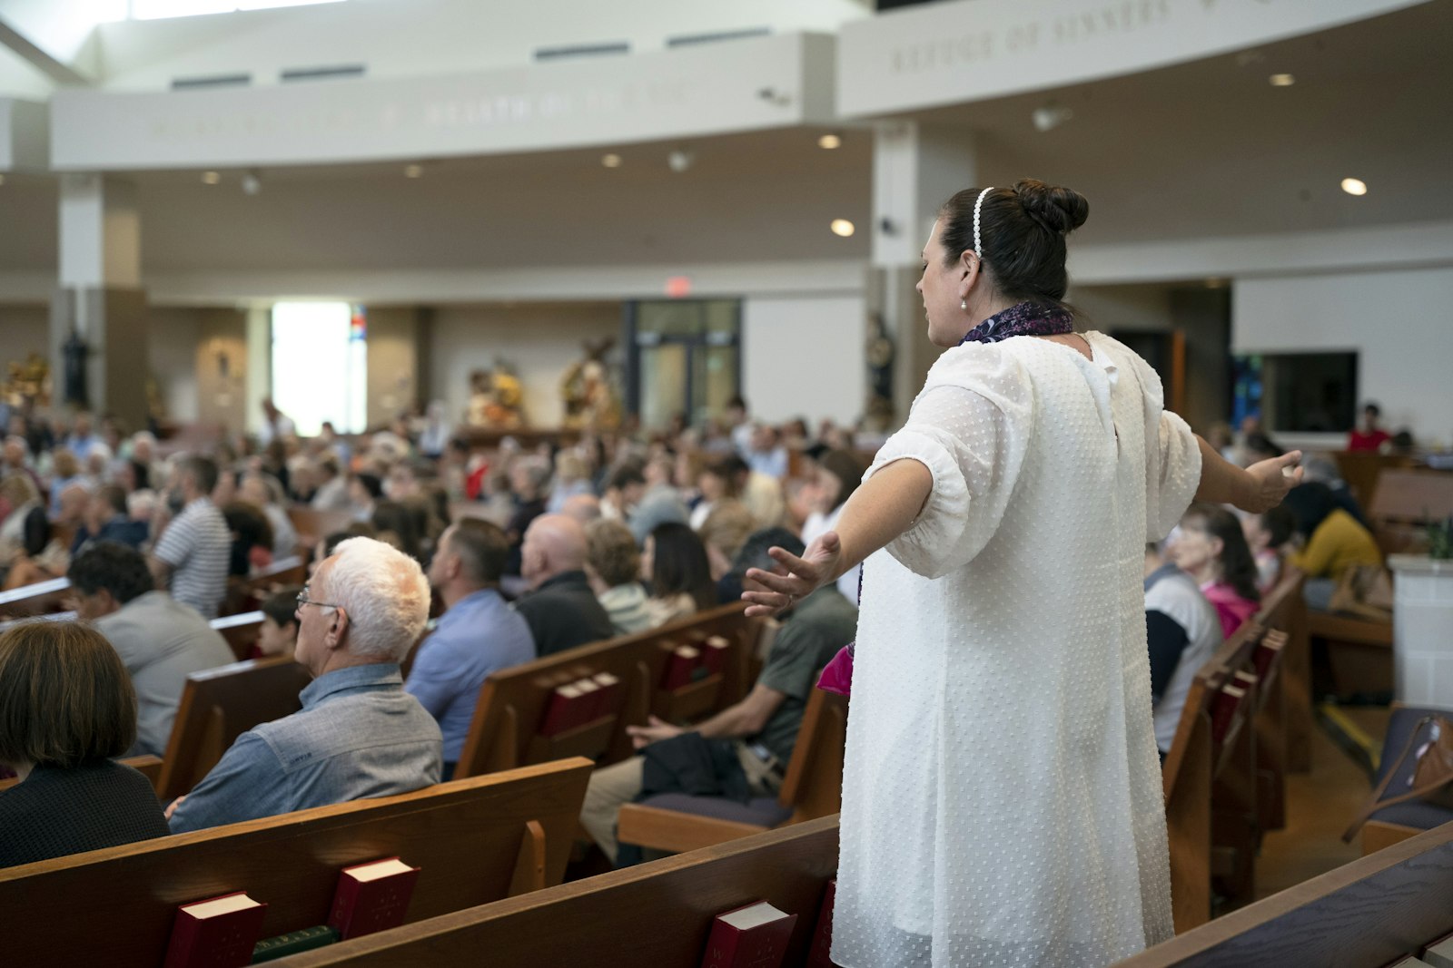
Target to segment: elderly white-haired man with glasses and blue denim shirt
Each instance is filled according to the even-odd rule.
[[[339,544],[298,595],[294,657],[314,676],[302,710],[238,736],[167,808],[171,833],[439,782],[439,724],[398,669],[427,618],[417,562],[372,538]]]

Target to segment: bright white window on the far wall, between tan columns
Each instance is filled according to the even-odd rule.
[[[323,421],[340,434],[368,422],[368,327],[346,302],[279,302],[272,311],[272,396],[314,437]]]

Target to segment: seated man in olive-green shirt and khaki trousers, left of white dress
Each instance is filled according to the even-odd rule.
[[[802,554],[802,541],[783,528],[757,531],[737,556],[732,570],[745,573],[748,567],[774,567],[767,549],[777,546]],[[747,586],[754,585],[747,581]],[[648,726],[628,727],[636,749],[657,740],[699,733],[703,739],[732,740],[737,759],[754,797],[774,795],[786,775],[788,760],[802,729],[802,714],[808,697],[817,686],[818,673],[837,650],[857,633],[857,607],[843,598],[835,586],[827,585],[808,595],[782,615],[782,628],[772,643],[767,662],[747,697],[692,730],[663,723],[651,717]],[[600,845],[607,858],[616,861],[616,820],[623,804],[641,795],[644,759],[631,759],[597,769],[586,788],[581,826]]]

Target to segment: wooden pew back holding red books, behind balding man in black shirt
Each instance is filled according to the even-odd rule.
[[[541,763],[561,756],[588,756],[613,763],[635,750],[626,726],[665,720],[696,720],[741,700],[751,688],[747,656],[757,623],[740,602],[722,605],[660,628],[609,639],[504,669],[485,679],[459,753],[455,776]],[[699,682],[667,692],[660,686],[671,649],[724,636],[726,666]],[[538,736],[551,694],[583,676],[610,672],[620,679],[620,707],[552,737]]]

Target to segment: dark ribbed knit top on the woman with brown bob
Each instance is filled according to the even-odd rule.
[[[169,833],[151,781],[109,759],[36,766],[0,791],[0,868]]]

